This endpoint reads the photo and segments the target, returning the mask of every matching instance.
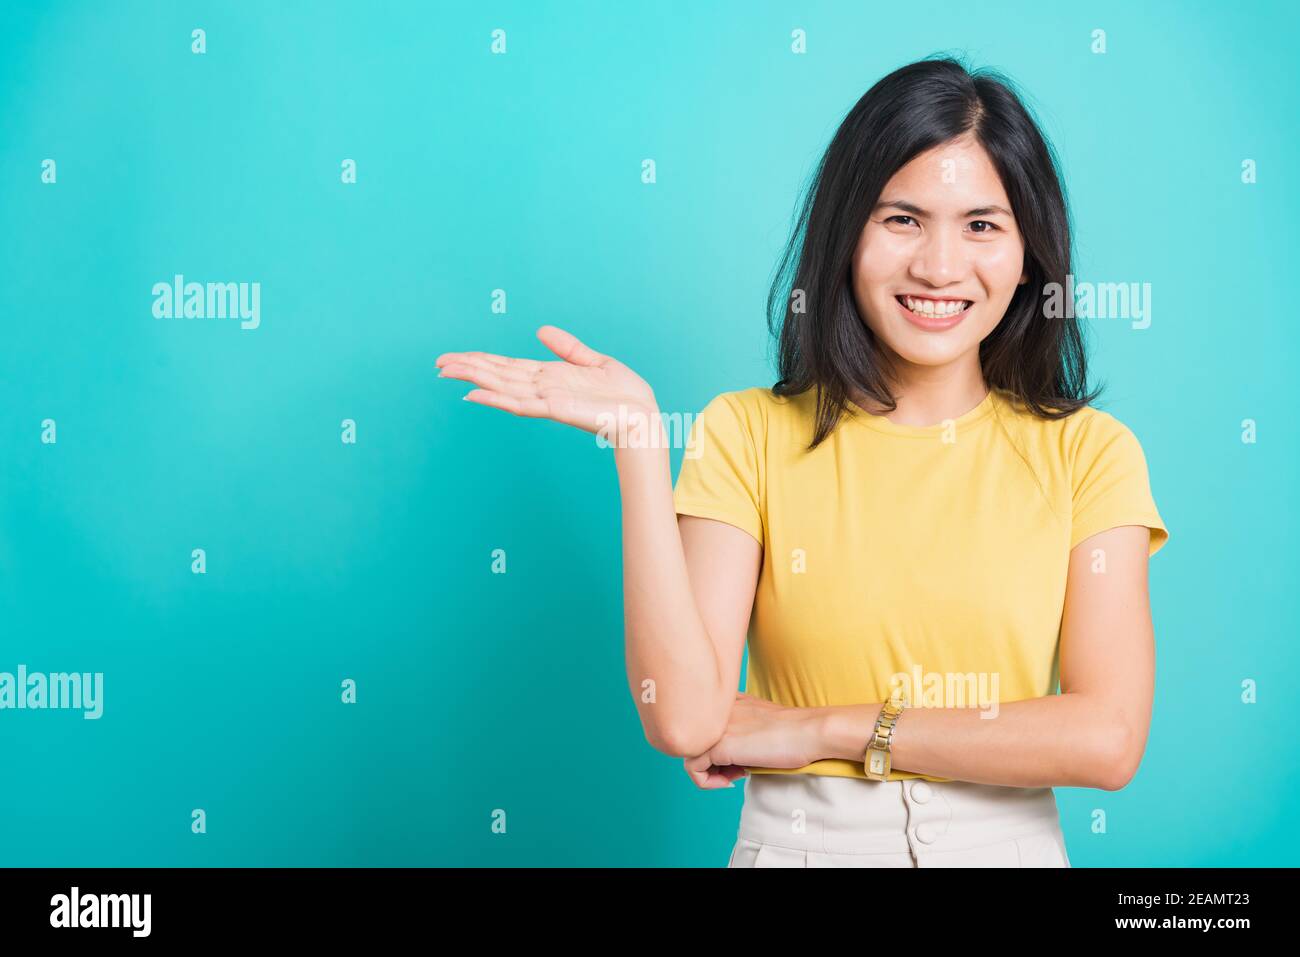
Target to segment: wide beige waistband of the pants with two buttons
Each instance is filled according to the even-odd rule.
[[[737,836],[801,850],[961,850],[1061,827],[1052,788],[815,774],[748,775],[744,787]]]

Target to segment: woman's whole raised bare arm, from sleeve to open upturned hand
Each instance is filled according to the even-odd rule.
[[[447,352],[438,367],[478,386],[467,399],[515,415],[602,432],[640,413],[662,428],[653,390],[632,369],[555,326],[542,326],[538,338],[563,361]],[[628,687],[646,740],[694,757],[727,728],[762,549],[725,523],[679,520],[667,443],[638,445],[615,449]]]

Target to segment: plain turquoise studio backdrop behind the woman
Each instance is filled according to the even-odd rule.
[[[1071,862],[1295,865],[1296,27],[1290,1],[5,4],[0,671],[103,685],[95,719],[0,710],[0,863],[724,865],[742,788],[697,791],[629,697],[611,452],[460,402],[434,358],[545,358],[552,322],[666,410],[771,385],[763,296],[820,151],[957,52],[1056,143],[1078,277],[1153,293],[1087,334],[1171,534],[1154,718],[1127,788],[1058,789]],[[244,283],[244,317],[156,317],[176,276]]]

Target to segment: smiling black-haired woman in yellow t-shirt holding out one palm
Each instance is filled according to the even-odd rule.
[[[706,406],[676,488],[650,386],[573,335],[438,358],[471,402],[659,423],[614,452],[628,684],[698,787],[745,779],[729,866],[1067,867],[1052,788],[1136,771],[1169,532],[1048,306],[1070,256],[1011,87],[924,60],[838,127],[768,302],[780,378]]]

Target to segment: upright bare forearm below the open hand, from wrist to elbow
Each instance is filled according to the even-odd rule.
[[[646,740],[666,754],[692,757],[722,736],[734,692],[723,689],[718,653],[690,589],[667,442],[619,447],[614,455],[628,687]]]

